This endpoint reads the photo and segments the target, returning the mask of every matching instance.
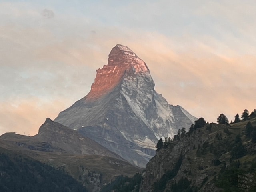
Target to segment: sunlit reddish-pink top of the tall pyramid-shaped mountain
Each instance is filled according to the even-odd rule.
[[[96,70],[96,78],[86,100],[94,101],[110,92],[121,82],[124,74],[134,76],[149,72],[146,63],[127,46],[117,44],[108,55],[108,65]]]

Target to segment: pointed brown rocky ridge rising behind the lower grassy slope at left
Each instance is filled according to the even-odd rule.
[[[60,123],[54,122],[50,118],[46,118],[44,124],[39,128],[38,134],[32,137],[6,133],[0,137],[0,141],[29,150],[58,154],[100,155],[124,160],[94,140],[84,137]]]

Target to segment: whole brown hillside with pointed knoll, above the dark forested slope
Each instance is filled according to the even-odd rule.
[[[40,126],[35,136],[3,134],[0,136],[0,146],[0,151],[5,149],[12,155],[28,156],[65,170],[90,192],[100,191],[115,176],[132,176],[141,171],[94,140],[49,118]],[[0,160],[0,173],[1,162]]]

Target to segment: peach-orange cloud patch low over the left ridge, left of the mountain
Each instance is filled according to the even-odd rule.
[[[60,109],[68,107],[65,99],[45,102],[40,98],[0,103],[0,135],[5,132],[35,135],[47,117],[54,119]]]

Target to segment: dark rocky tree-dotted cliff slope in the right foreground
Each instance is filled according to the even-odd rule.
[[[140,192],[254,191],[256,143],[247,123],[208,124],[167,142],[148,162]],[[252,125],[256,132],[255,118]]]

